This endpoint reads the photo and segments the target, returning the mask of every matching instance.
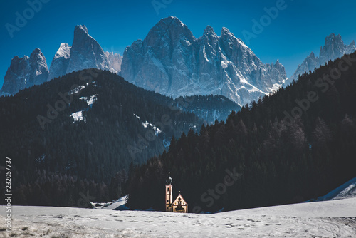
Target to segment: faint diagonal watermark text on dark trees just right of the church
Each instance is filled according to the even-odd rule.
[[[204,202],[206,207],[213,206],[214,202],[219,200],[221,195],[224,195],[228,187],[234,185],[235,182],[242,176],[241,173],[236,172],[236,167],[234,167],[232,172],[229,169],[226,169],[225,172],[226,176],[224,177],[223,182],[216,184],[214,189],[209,188],[200,196],[201,202]],[[192,210],[193,213],[200,213],[201,211],[202,208],[200,206],[195,206]]]

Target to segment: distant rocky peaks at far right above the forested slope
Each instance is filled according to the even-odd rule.
[[[325,38],[324,47],[320,46],[319,57],[315,56],[312,52],[310,53],[305,60],[298,65],[298,68],[293,73],[293,76],[290,77],[290,80],[298,79],[298,75],[302,75],[308,71],[314,71],[315,68],[318,68],[321,65],[324,65],[328,61],[333,61],[335,58],[340,58],[345,53],[352,53],[356,50],[355,41],[352,41],[350,45],[345,45],[341,39],[340,35],[335,35],[331,33]]]

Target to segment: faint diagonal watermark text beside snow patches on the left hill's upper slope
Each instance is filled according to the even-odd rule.
[[[89,68],[79,73],[80,81],[83,81],[85,86],[89,83],[92,83],[93,78],[98,77],[98,73],[95,73],[94,71],[98,72],[98,70],[95,68]],[[52,123],[53,120],[58,118],[59,113],[67,108],[67,104],[70,105],[70,103],[73,102],[73,95],[80,95],[85,86],[73,84],[68,92],[58,93],[61,99],[56,100],[54,107],[49,103],[47,104],[48,110],[46,116],[37,115],[37,120],[42,130],[45,130],[46,123]]]

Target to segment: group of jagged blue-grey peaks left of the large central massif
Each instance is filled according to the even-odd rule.
[[[118,73],[121,61],[122,56],[119,54],[103,51],[99,43],[88,34],[85,26],[75,26],[72,46],[61,43],[49,71],[46,58],[39,48],[36,48],[30,57],[15,56],[6,71],[0,95],[14,95],[23,88],[39,85],[85,68],[98,68]]]

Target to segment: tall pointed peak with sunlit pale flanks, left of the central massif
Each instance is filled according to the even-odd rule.
[[[84,25],[75,26],[72,46],[61,43],[50,67],[48,80],[66,73],[85,68],[98,68],[118,73],[121,70],[122,56],[103,51],[100,44],[88,34]]]

